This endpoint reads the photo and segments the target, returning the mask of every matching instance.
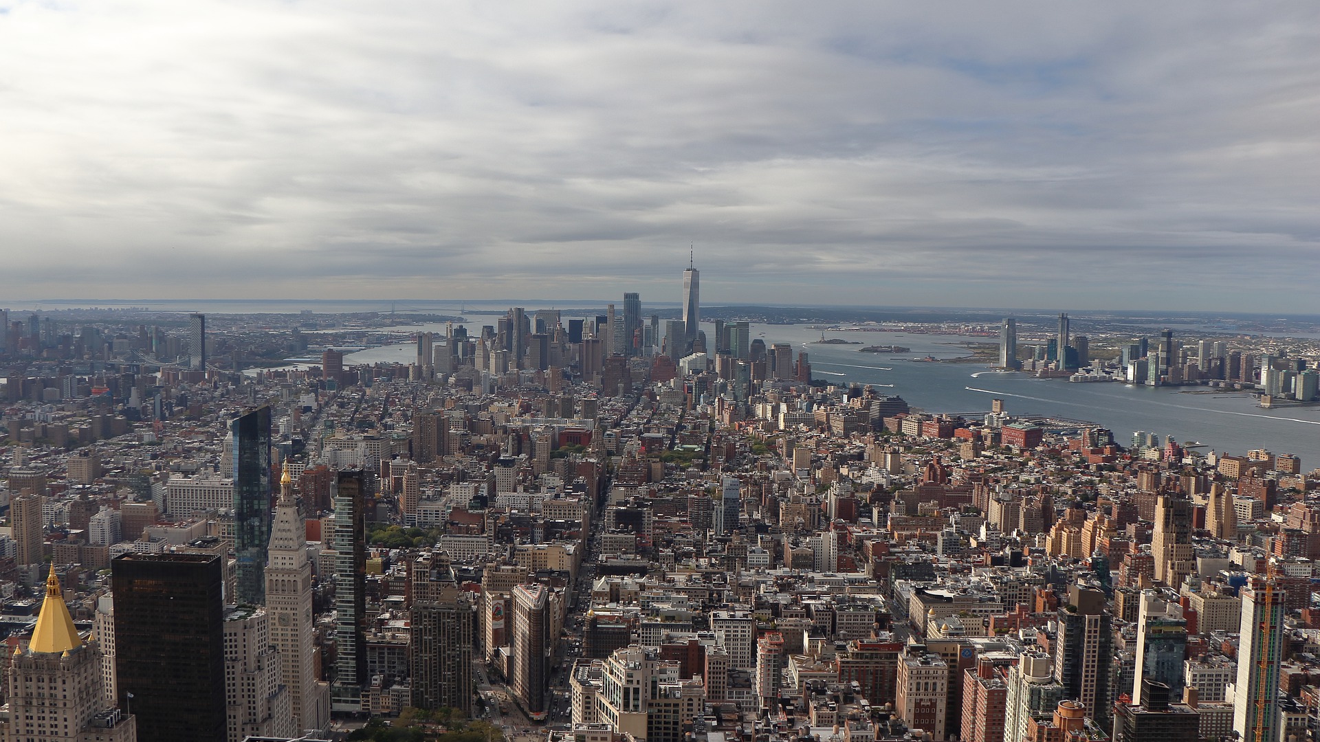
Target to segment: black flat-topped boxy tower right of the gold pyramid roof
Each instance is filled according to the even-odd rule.
[[[223,558],[127,553],[111,561],[119,708],[139,742],[224,742]]]

